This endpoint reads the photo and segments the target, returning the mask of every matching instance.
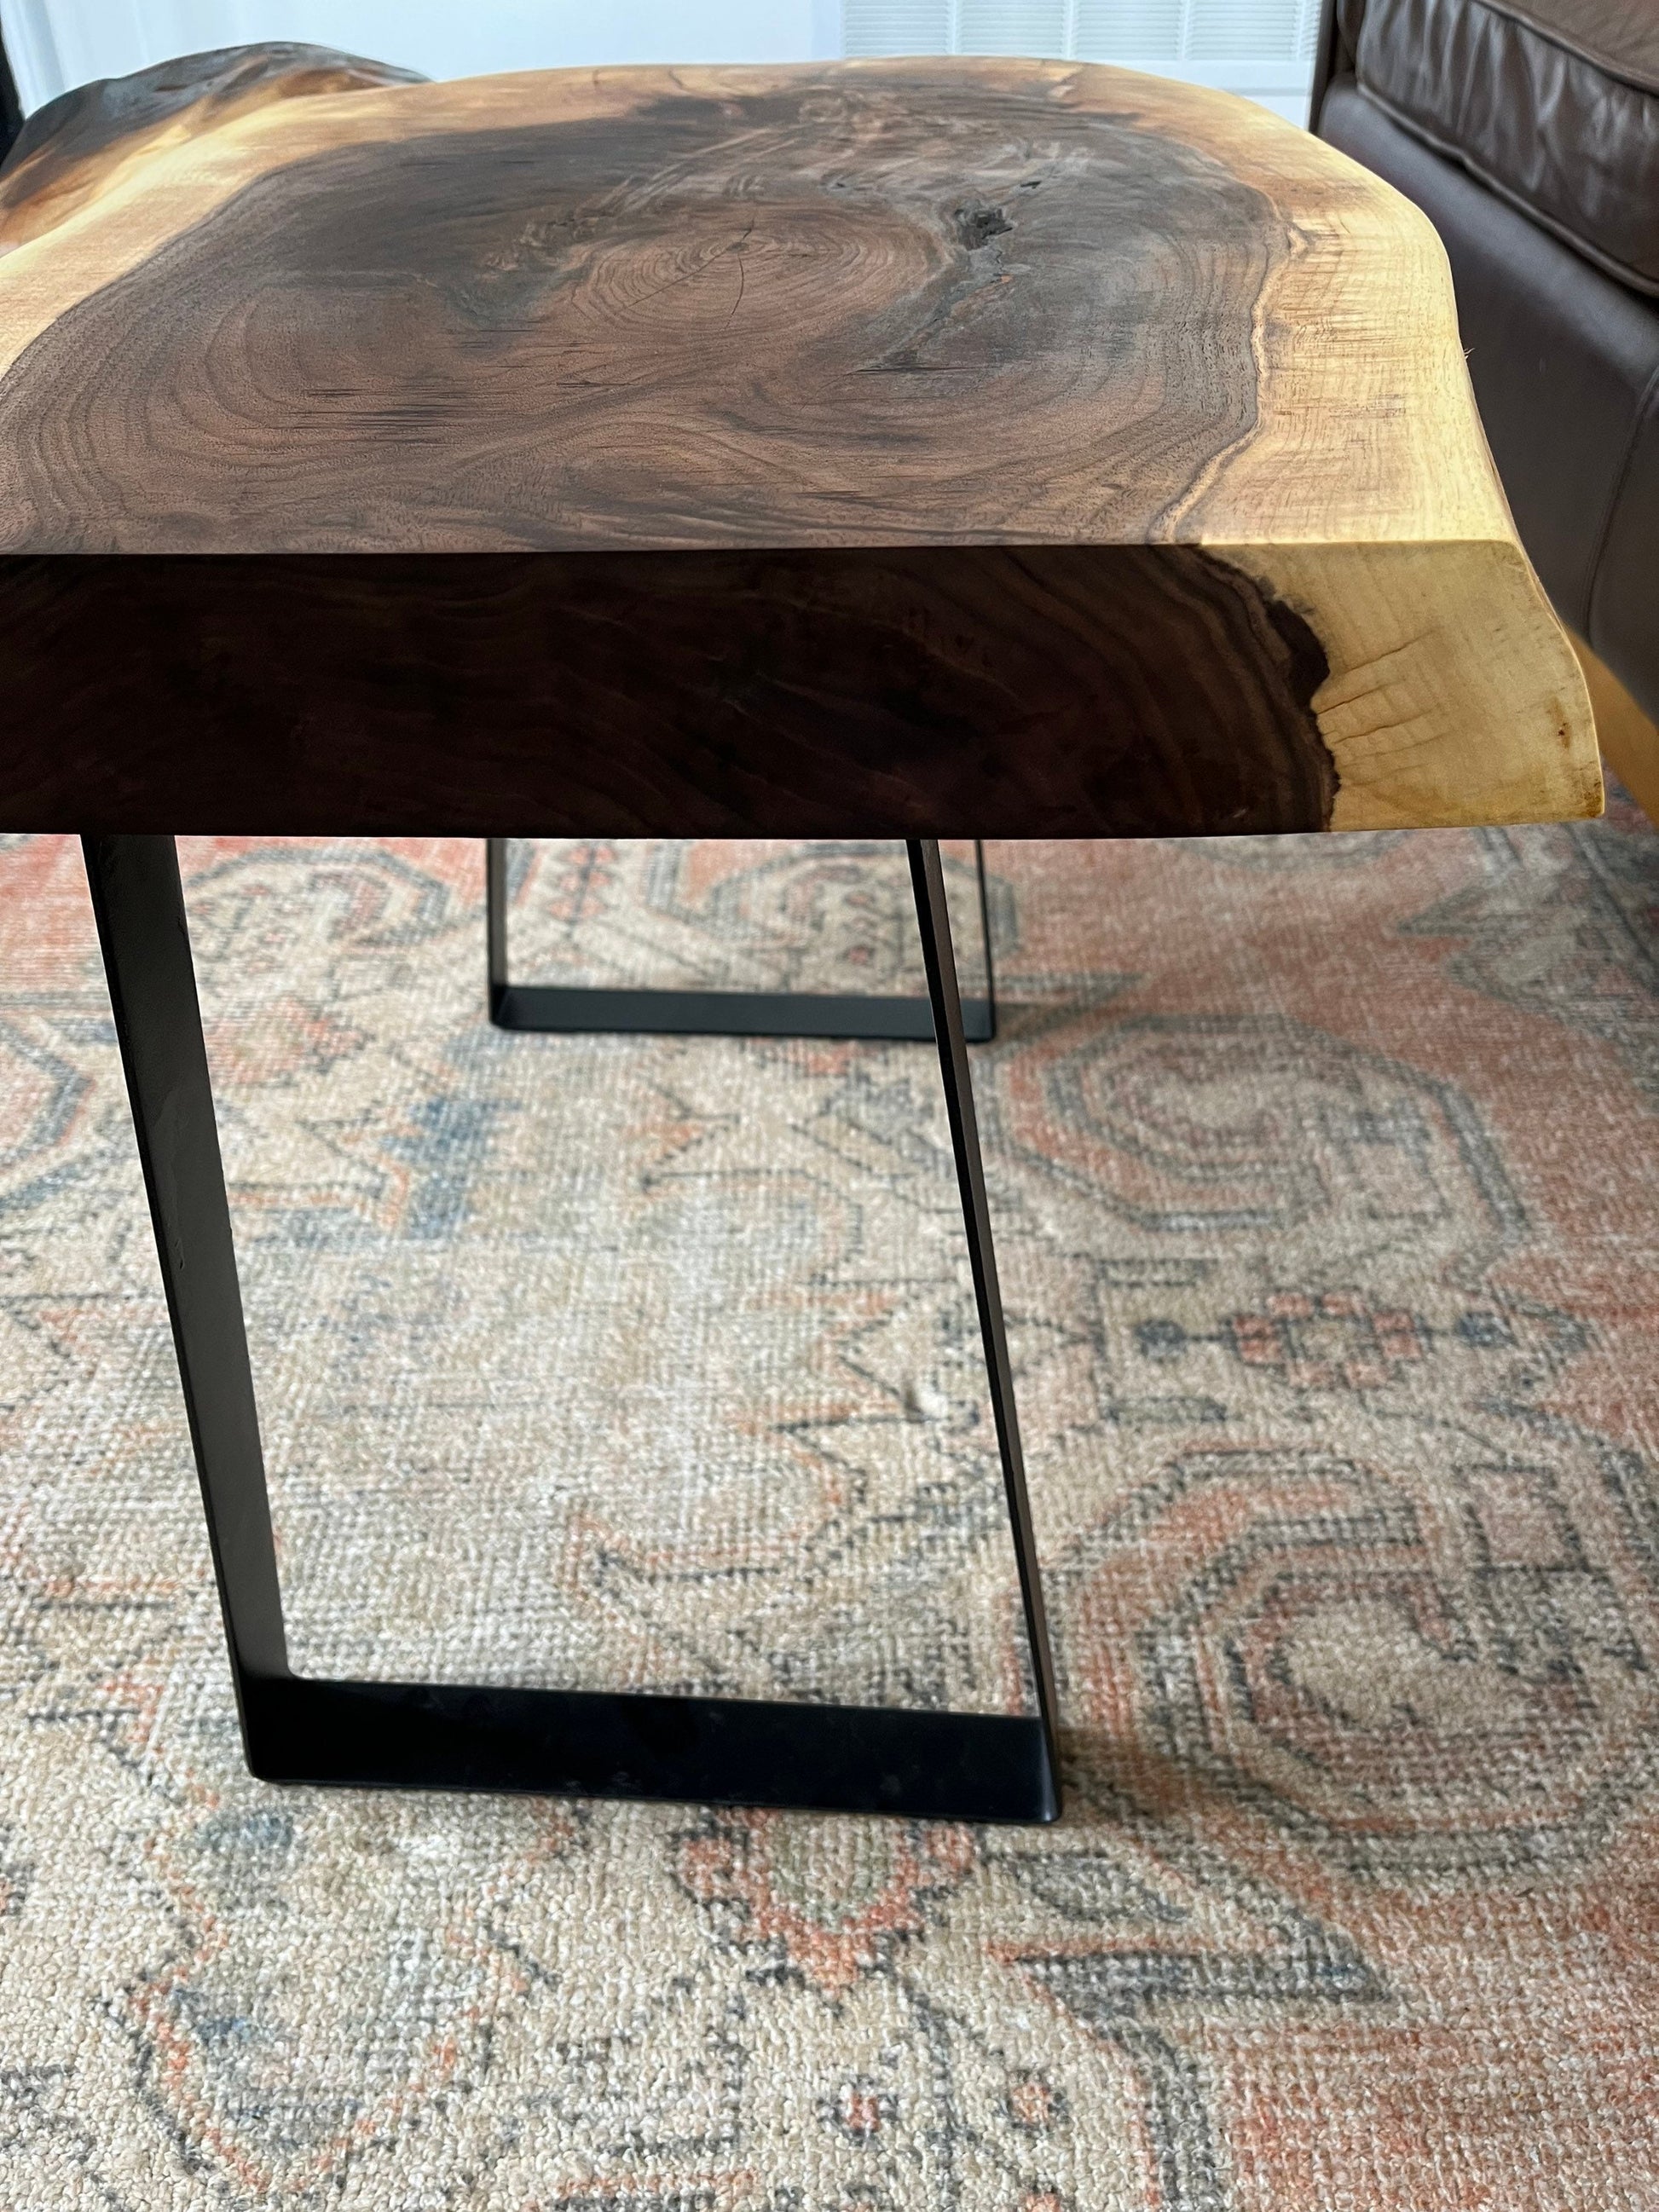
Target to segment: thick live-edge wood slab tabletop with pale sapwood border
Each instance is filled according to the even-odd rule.
[[[241,49],[0,177],[0,827],[1593,814],[1427,221],[1046,62]]]

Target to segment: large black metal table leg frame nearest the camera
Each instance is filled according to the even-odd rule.
[[[177,854],[173,838],[159,836],[82,845],[252,1772],[358,1787],[1053,1820],[1053,1666],[938,845],[911,843],[911,880],[1031,1637],[1035,1717],[294,1674]]]

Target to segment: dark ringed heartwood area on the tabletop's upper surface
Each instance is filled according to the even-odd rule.
[[[0,546],[1139,540],[1250,434],[1285,250],[1221,161],[1035,91],[347,146],[27,347]]]

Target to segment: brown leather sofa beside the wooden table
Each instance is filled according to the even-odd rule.
[[[1440,230],[1526,551],[1659,717],[1659,0],[1325,0],[1314,128]]]

